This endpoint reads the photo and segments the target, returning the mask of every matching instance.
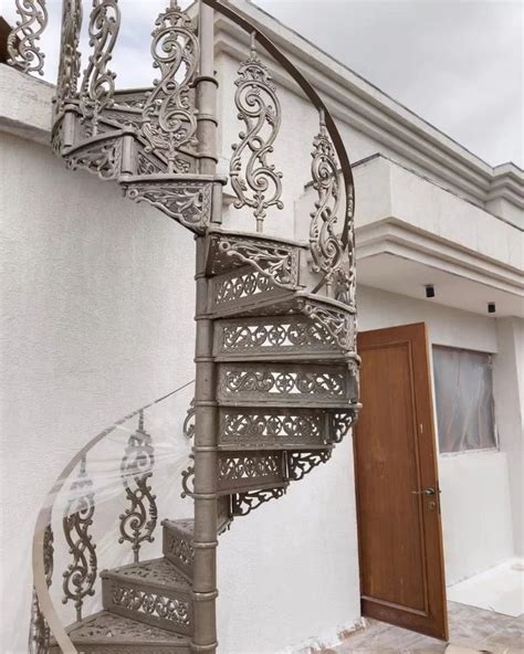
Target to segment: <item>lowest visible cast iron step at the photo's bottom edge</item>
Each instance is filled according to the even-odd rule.
[[[84,654],[189,654],[189,639],[102,611],[84,618],[67,627],[73,644]],[[61,650],[51,640],[50,654],[60,654]]]

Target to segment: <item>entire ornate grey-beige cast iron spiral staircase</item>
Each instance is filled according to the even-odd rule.
[[[217,175],[213,12],[251,39],[235,82],[243,125],[227,177]],[[12,63],[25,72],[39,72],[38,36],[45,22],[43,0],[22,8],[10,51]],[[203,0],[197,20],[195,7],[182,11],[171,1],[155,23],[151,53],[159,78],[148,89],[115,88],[109,64],[119,22],[117,0],[94,0],[92,50],[81,74],[82,2],[64,0],[52,147],[70,169],[119,186],[129,200],[149,203],[195,233],[193,461],[182,475],[195,517],[165,519],[163,556],[142,560],[140,546],[151,539],[157,516],[151,472],[144,465],[153,460],[150,443],[144,412],[138,412],[126,454],[136,455],[135,467],[122,467],[130,471],[123,478],[132,505],[120,515],[120,542],[133,546],[134,561],[98,573],[88,532],[93,494],[70,505],[63,528],[73,562],[63,584],[76,622],[64,626],[49,593],[54,535],[50,509],[43,509],[33,547],[30,648],[211,653],[218,647],[218,535],[327,462],[358,413],[352,172],[322,99],[242,12]],[[317,199],[305,243],[264,234],[269,211],[284,211],[290,221],[294,217],[285,213],[282,175],[270,161],[281,107],[259,48],[318,112],[311,167]],[[255,231],[223,226],[228,183],[234,207],[253,213]],[[87,487],[85,451],[67,474],[73,470],[78,471],[77,486]],[[130,518],[136,521],[128,536]],[[84,600],[93,594],[97,574],[103,610],[85,615]]]

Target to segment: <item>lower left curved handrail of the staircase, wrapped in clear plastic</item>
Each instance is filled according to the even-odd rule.
[[[63,488],[65,482],[71,476],[71,473],[75,470],[75,467],[78,465],[78,463],[81,463],[81,461],[87,455],[87,453],[91,450],[93,450],[93,447],[95,445],[97,445],[106,436],[108,436],[111,433],[113,433],[118,426],[120,426],[122,424],[124,424],[125,422],[127,422],[128,420],[134,418],[135,415],[138,415],[142,411],[145,411],[146,409],[149,409],[150,407],[154,407],[155,404],[158,404],[158,403],[163,402],[164,400],[167,400],[167,398],[170,398],[175,393],[178,393],[179,391],[184,390],[185,388],[187,388],[188,386],[190,386],[193,382],[195,382],[195,380],[188,381],[187,383],[178,387],[177,389],[175,389],[170,393],[167,393],[166,395],[158,398],[158,400],[155,400],[154,402],[149,402],[149,404],[146,404],[146,405],[142,407],[140,409],[133,411],[132,413],[125,415],[124,418],[122,418],[120,420],[115,422],[111,428],[105,429],[103,432],[101,432],[99,434],[94,436],[67,463],[67,465],[63,468],[61,474],[56,477],[56,481],[54,482],[51,491],[45,496],[45,500],[44,500],[42,508],[40,509],[40,513],[36,518],[36,525],[35,525],[34,534],[33,534],[33,544],[32,544],[33,586],[34,586],[34,590],[36,592],[36,598],[39,601],[40,610],[42,611],[42,614],[45,618],[45,621],[48,623],[48,626],[49,626],[51,633],[53,634],[53,636],[56,641],[56,644],[60,646],[63,654],[78,654],[78,651],[76,650],[72,640],[67,635],[67,632],[65,631],[65,627],[62,624],[62,621],[54,608],[54,603],[53,603],[53,600],[51,599],[51,593],[48,588],[48,582],[46,582],[45,572],[44,572],[44,566],[45,566],[45,563],[44,563],[44,548],[43,548],[44,532],[45,532],[48,525],[50,525],[51,520],[52,520],[54,500],[55,500],[57,494],[60,493],[60,491]]]

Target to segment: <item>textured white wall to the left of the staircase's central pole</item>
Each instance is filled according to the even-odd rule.
[[[104,428],[193,378],[193,242],[48,147],[0,137],[0,650],[19,654],[51,484]]]

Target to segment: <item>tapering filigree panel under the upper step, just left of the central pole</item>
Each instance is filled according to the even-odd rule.
[[[126,197],[148,202],[193,232],[202,232],[211,218],[212,183],[206,181],[124,181]]]

